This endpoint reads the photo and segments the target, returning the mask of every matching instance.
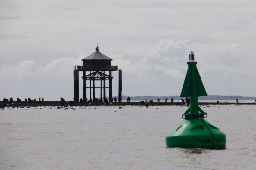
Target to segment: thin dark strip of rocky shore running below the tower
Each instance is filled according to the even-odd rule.
[[[3,108],[3,101],[0,101],[0,106],[1,108]],[[65,102],[65,106],[69,106],[69,101]],[[256,105],[256,103],[253,102],[219,102],[217,104],[217,102],[198,102],[199,105]],[[99,106],[104,106],[105,103],[104,102],[99,102]],[[148,103],[149,106],[181,106],[181,105],[186,105],[186,103],[182,103],[182,102],[153,102],[153,103]],[[19,105],[19,107],[27,107],[29,106],[28,102],[24,102],[22,101],[21,104]],[[37,106],[60,106],[60,102],[59,101],[44,101],[39,103],[38,101],[36,102],[31,102],[31,107],[37,107]],[[95,104],[95,102],[91,102],[91,104],[89,102],[83,102],[82,104],[80,104],[80,102],[78,102],[76,104],[76,106],[97,106]],[[140,102],[113,102],[112,104],[108,103],[108,106],[142,106],[142,104]],[[13,101],[13,104],[8,104],[8,106],[5,107],[17,107],[17,102]]]

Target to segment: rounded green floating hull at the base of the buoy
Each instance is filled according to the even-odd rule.
[[[226,135],[205,119],[184,120],[165,137],[167,147],[225,149]]]

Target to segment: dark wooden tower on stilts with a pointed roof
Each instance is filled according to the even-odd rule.
[[[74,66],[74,99],[79,100],[79,71],[83,72],[83,100],[93,100],[96,98],[95,89],[100,89],[100,100],[104,101],[106,98],[106,89],[109,89],[109,101],[112,99],[112,71],[117,71],[117,66],[112,66],[109,57],[99,51],[96,51],[88,57],[82,59],[83,66]],[[122,70],[119,70],[118,81],[118,101],[122,100]],[[100,81],[100,87],[95,87],[95,81]],[[106,82],[109,82],[109,87],[106,87]],[[89,86],[87,84],[89,82]],[[87,89],[89,89],[89,98],[87,97]],[[102,92],[103,90],[103,92]]]

